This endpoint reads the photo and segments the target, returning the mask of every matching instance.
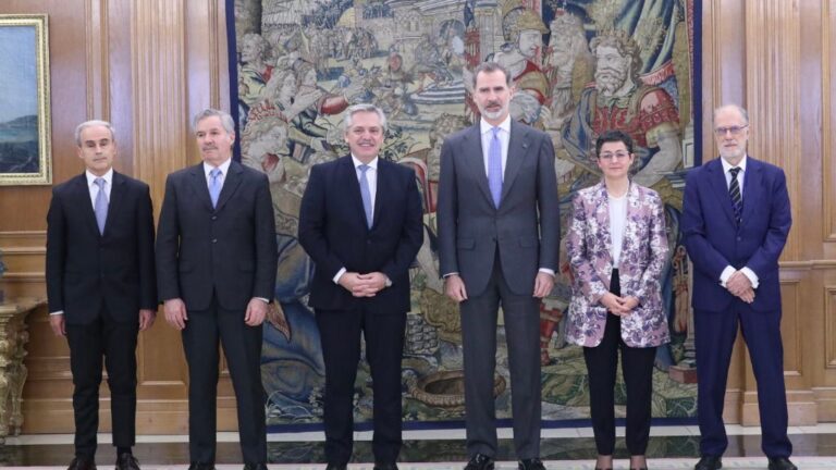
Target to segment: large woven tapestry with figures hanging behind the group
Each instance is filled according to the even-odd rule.
[[[414,169],[423,199],[425,240],[410,270],[404,419],[407,428],[463,420],[460,324],[439,275],[435,200],[441,145],[478,120],[469,91],[472,70],[487,60],[511,71],[513,119],[553,139],[564,232],[574,194],[600,181],[598,134],[619,128],[637,143],[634,181],[662,195],[672,247],[663,295],[673,342],[657,350],[653,416],[694,416],[689,267],[678,228],[681,175],[693,164],[699,122],[692,111],[692,65],[699,63],[692,0],[229,0],[229,7],[241,159],[268,175],[279,234],[276,302],[265,325],[261,362],[268,424],[322,418],[324,364],[307,306],[316,267],[296,238],[298,213],[311,165],[347,153],[343,111],[360,102],[386,113],[381,158]],[[562,246],[557,282],[540,311],[546,425],[589,418],[582,351],[564,339],[569,275]],[[502,324],[496,341],[496,412],[507,419]],[[618,416],[624,403],[619,378]],[[362,361],[355,418],[371,416],[371,378]]]

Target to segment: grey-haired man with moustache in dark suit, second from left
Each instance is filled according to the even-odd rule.
[[[232,118],[195,116],[202,162],[169,175],[157,230],[165,321],[188,362],[190,470],[214,467],[218,342],[232,375],[246,470],[267,466],[261,322],[273,299],[278,249],[267,176],[232,161]]]

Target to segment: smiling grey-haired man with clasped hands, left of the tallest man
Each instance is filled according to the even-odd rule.
[[[374,394],[374,469],[394,470],[409,265],[423,238],[421,199],[414,171],[378,158],[383,111],[353,106],[344,125],[351,154],[311,169],[299,211],[299,243],[317,265],[309,304],[325,362],[327,468],[345,470],[352,457],[362,335]]]

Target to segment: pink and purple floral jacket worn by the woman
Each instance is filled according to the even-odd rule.
[[[620,260],[613,265],[610,199],[599,183],[579,190],[573,200],[566,251],[573,273],[566,339],[594,347],[604,338],[606,307],[599,301],[610,292],[613,269],[618,269],[622,296],[639,306],[622,317],[622,338],[630,347],[659,346],[671,341],[662,304],[662,271],[667,261],[667,234],[662,199],[653,189],[631,183],[627,191],[627,221]]]

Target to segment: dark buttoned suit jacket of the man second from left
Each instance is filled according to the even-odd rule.
[[[278,248],[267,175],[233,161],[212,209],[204,164],[174,172],[157,230],[160,299],[182,298],[206,310],[244,310],[253,297],[272,300]]]

